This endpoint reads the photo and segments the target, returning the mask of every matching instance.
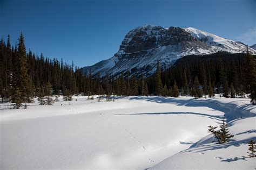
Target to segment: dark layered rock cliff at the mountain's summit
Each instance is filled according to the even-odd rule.
[[[136,53],[185,41],[197,41],[197,39],[180,27],[171,26],[169,29],[164,29],[161,26],[146,25],[130,31],[122,41],[119,50],[125,53]]]

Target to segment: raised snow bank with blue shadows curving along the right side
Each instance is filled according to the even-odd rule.
[[[255,169],[256,158],[247,158],[248,141],[256,140],[256,106],[244,98],[212,98],[183,100],[154,98],[154,102],[170,102],[194,107],[210,107],[223,111],[234,138],[226,144],[212,143],[212,134],[200,139],[187,150],[161,161],[151,169]],[[205,127],[207,130],[207,127]]]

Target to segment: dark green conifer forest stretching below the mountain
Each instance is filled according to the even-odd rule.
[[[177,60],[167,70],[150,76],[133,75],[124,70],[120,75],[104,77],[84,74],[82,70],[62,60],[35,55],[24,44],[23,34],[18,44],[0,41],[0,96],[2,102],[31,103],[33,98],[47,95],[190,95],[196,98],[244,97],[255,102],[256,60],[249,52],[211,55],[190,55]]]

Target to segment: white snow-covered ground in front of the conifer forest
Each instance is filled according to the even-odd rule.
[[[256,107],[245,98],[78,96],[52,106],[0,106],[0,169],[256,167],[246,158],[248,141],[256,139]],[[234,138],[213,144],[207,126],[224,115]]]

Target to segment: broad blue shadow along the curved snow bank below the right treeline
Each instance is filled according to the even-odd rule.
[[[160,97],[160,96],[134,96],[131,97],[130,100],[143,100],[148,102],[156,102],[156,103],[173,103],[179,106],[186,107],[208,107],[214,110],[218,110],[224,112],[224,116],[227,119],[227,122],[230,122],[234,119],[243,118],[243,117],[254,117],[255,114],[251,113],[250,110],[254,109],[253,105],[248,105],[244,103],[244,100],[235,100],[229,103],[219,103],[214,100],[215,98],[207,98],[207,99],[196,99],[183,97]],[[242,105],[237,107],[233,102],[241,102]]]

